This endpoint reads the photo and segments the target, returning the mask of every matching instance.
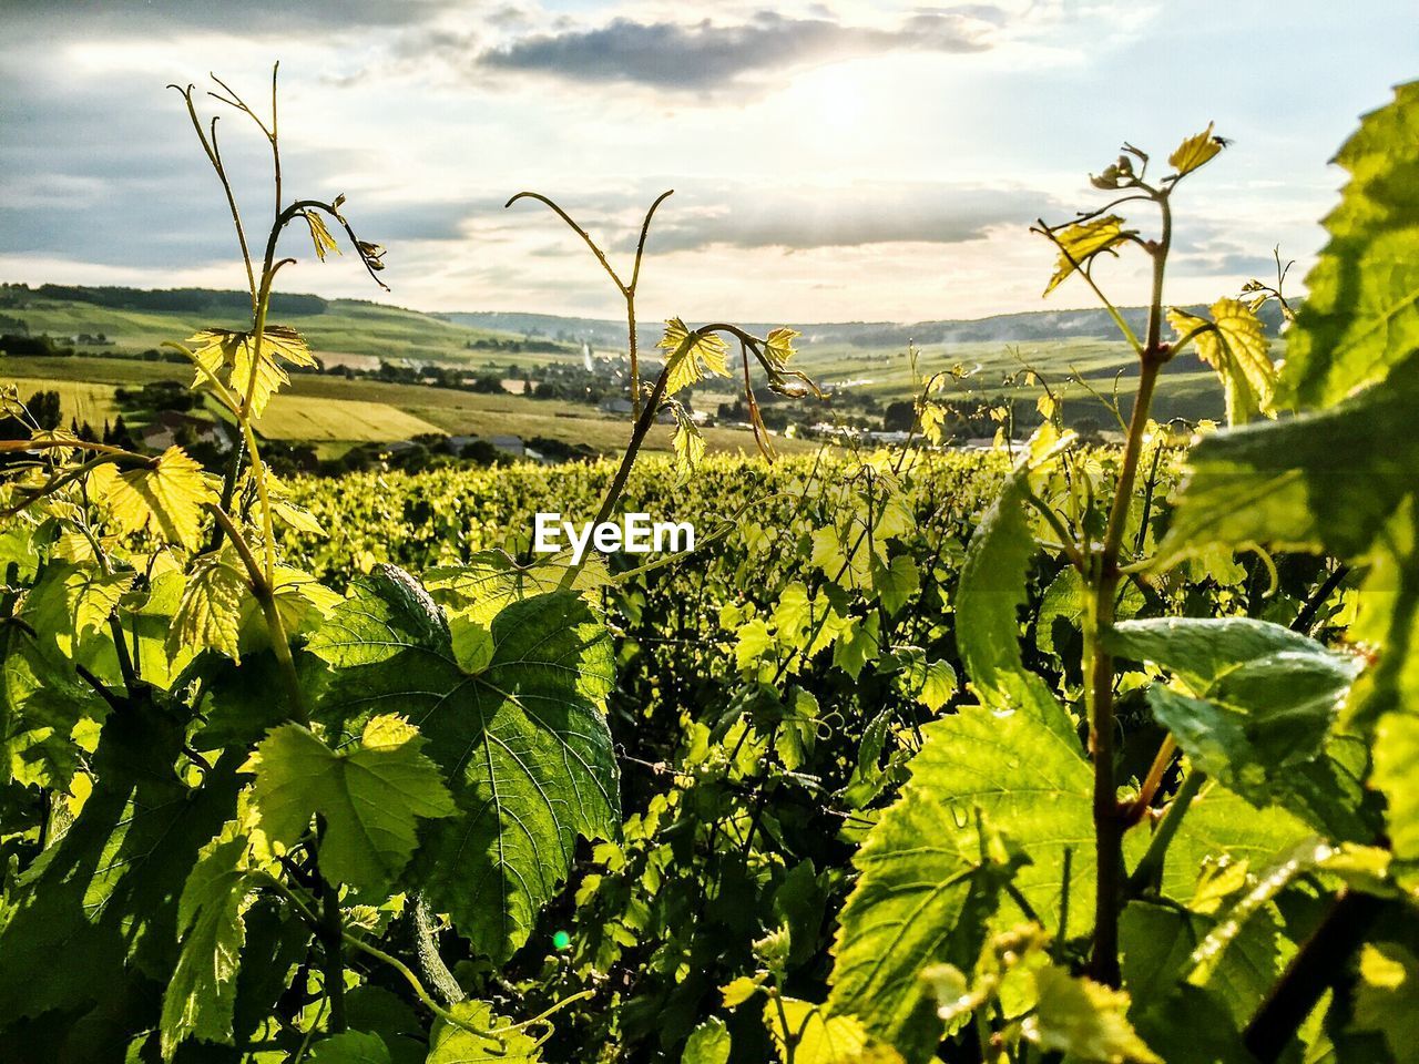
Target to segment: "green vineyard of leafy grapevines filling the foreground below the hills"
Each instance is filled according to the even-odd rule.
[[[1103,206],[1036,224],[1046,291],[1137,356],[1100,396],[1118,445],[1032,379],[1027,440],[1002,414],[993,450],[945,447],[968,370],[912,362],[905,445],[778,454],[758,392],[817,394],[792,329],[671,319],[641,377],[666,197],[617,272],[522,193],[626,299],[624,453],[338,480],[263,460],[267,410],[309,416],[278,240],[375,284],[386,254],[358,203],[282,192],[274,79],[270,115],[217,85],[275,214],[244,220],[179,89],[251,321],[167,346],[236,454],[3,397],[4,1060],[1413,1060],[1419,84],[1341,148],[1303,299],[1283,272],[1168,302],[1175,193],[1227,163],[1210,126],[1127,145]],[[1141,331],[1108,255],[1151,270]],[[1226,426],[1151,417],[1182,353]],[[707,453],[710,377],[742,377],[762,457]],[[548,558],[542,511],[695,546]]]

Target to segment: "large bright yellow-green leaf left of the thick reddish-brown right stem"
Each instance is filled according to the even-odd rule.
[[[941,1031],[918,976],[934,963],[975,966],[1002,884],[1013,878],[1034,912],[1057,922],[1064,851],[1076,898],[1094,880],[1093,775],[1073,735],[985,706],[922,731],[911,780],[853,860],[860,877],[839,919],[829,997],[832,1013],[858,1016],[914,1063]],[[1030,863],[989,857],[999,847],[990,830]],[[1081,908],[1070,908],[1069,935],[1088,931]]]

